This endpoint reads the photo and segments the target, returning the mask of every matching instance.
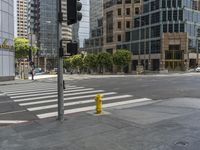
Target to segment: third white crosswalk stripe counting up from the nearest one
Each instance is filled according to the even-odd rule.
[[[113,95],[113,94],[117,94],[116,92],[108,92],[108,93],[100,93],[104,96],[106,95]],[[68,97],[68,98],[64,98],[64,101],[67,100],[75,100],[75,99],[79,99],[79,98],[91,98],[91,97],[95,97],[96,94],[92,94],[92,95],[85,95],[85,96],[75,96],[75,97]],[[37,102],[28,102],[28,103],[20,103],[20,106],[30,106],[30,105],[36,105],[36,104],[45,104],[45,103],[51,103],[51,102],[57,102],[57,99],[51,99],[51,100],[44,100],[44,101],[37,101]]]

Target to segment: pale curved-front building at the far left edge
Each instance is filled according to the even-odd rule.
[[[15,77],[14,2],[0,0],[0,81]]]

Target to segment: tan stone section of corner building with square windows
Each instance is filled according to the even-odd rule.
[[[132,0],[104,0],[103,6],[103,49],[111,54],[125,41],[126,31],[133,25],[134,4]]]

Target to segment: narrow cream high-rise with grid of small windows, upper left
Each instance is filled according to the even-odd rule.
[[[17,36],[27,38],[27,0],[17,0]]]

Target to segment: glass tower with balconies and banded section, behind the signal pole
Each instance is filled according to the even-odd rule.
[[[57,1],[55,0],[29,0],[28,31],[36,36],[40,58],[38,65],[45,71],[56,67],[58,54],[57,39]],[[64,20],[67,17],[66,0],[62,0]],[[67,23],[62,24],[62,38],[72,39],[72,29]],[[66,43],[64,43],[64,46]]]

